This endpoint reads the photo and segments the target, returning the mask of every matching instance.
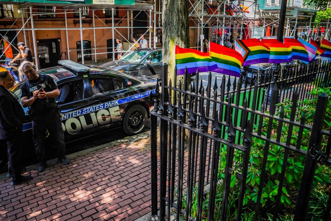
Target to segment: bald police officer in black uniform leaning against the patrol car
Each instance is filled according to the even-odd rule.
[[[46,129],[53,134],[59,161],[69,164],[65,156],[66,146],[64,134],[55,103],[55,97],[60,94],[59,88],[52,77],[38,75],[29,63],[24,64],[23,73],[27,81],[21,87],[21,101],[23,107],[30,107],[29,114],[32,117],[33,142],[39,160],[38,172],[45,170],[45,135]]]

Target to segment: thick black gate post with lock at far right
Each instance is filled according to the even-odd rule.
[[[311,129],[311,136],[307,150],[307,159],[302,176],[301,186],[298,194],[297,206],[294,215],[294,221],[301,221],[306,219],[308,202],[312,182],[315,175],[316,163],[315,151],[319,150],[321,142],[321,130],[323,128],[324,116],[328,102],[328,95],[323,93],[318,96],[315,117]]]

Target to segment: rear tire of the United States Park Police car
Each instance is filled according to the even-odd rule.
[[[132,128],[130,128],[129,125],[130,125],[130,117],[132,117],[132,115],[135,113],[141,114],[143,119],[142,122],[139,124],[139,127],[136,130],[133,130]],[[143,106],[136,104],[129,107],[129,109],[125,112],[122,122],[122,128],[126,134],[135,135],[135,134],[139,134],[145,128],[146,122],[147,122],[146,109]]]

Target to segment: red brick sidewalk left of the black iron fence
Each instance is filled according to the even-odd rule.
[[[0,220],[131,221],[147,214],[150,152],[138,152],[137,137],[129,139],[72,154],[69,165],[53,163],[41,173],[29,167],[26,184],[1,178]]]

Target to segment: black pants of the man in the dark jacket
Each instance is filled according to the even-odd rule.
[[[8,163],[12,180],[16,181],[21,178],[21,155],[22,155],[22,130],[13,133],[13,137],[7,138]]]

